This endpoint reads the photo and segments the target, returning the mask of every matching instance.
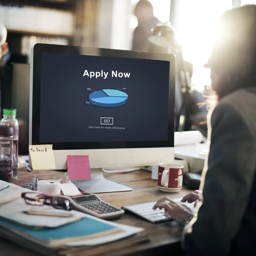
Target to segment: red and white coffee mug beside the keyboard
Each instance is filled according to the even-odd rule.
[[[160,163],[158,166],[157,186],[167,193],[179,192],[183,181],[182,164]]]

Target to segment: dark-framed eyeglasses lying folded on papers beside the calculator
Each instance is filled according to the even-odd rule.
[[[42,206],[46,204],[52,205],[52,207],[56,209],[64,209],[67,211],[72,210],[71,201],[68,198],[61,195],[49,196],[37,192],[23,192],[21,194],[21,198],[24,198],[26,204],[30,205]]]

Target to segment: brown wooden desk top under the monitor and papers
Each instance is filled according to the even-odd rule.
[[[18,178],[12,180],[20,186],[29,184],[35,175],[39,180],[49,179],[51,177],[59,178],[64,172],[58,171],[33,171],[19,172]],[[166,194],[157,189],[156,180],[151,180],[151,173],[146,171],[136,171],[130,173],[104,174],[106,178],[114,182],[131,187],[130,192],[113,192],[98,194],[102,200],[122,207],[129,204],[139,204],[156,201],[157,199],[168,195],[170,198],[182,198],[189,191],[181,189],[179,193]],[[109,244],[91,247],[76,247],[63,249],[61,255],[67,256],[117,256],[117,255],[157,255],[161,251],[172,252],[172,255],[183,255],[180,249],[179,241],[182,233],[180,227],[175,221],[167,221],[159,224],[152,224],[135,215],[125,213],[121,218],[115,220],[116,223],[127,224],[135,227],[142,227],[145,230],[136,236],[122,239]],[[171,247],[171,248],[170,248]],[[23,249],[9,241],[0,240],[0,256],[37,256],[38,253]],[[175,253],[175,254],[173,254]]]

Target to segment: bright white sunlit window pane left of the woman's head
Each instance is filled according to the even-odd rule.
[[[209,85],[210,70],[204,63],[211,54],[214,28],[220,15],[232,8],[232,0],[180,0],[175,20],[183,57],[194,66],[192,82],[203,92]]]

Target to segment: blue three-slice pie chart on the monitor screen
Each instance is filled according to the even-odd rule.
[[[128,95],[120,90],[104,89],[90,93],[89,102],[99,107],[113,108],[125,105]]]

